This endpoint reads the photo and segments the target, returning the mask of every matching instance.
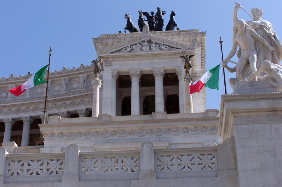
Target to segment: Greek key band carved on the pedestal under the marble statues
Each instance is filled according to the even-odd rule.
[[[234,117],[234,124],[281,123],[282,115]]]

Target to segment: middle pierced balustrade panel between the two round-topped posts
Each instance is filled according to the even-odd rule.
[[[138,179],[139,170],[139,151],[79,153],[80,180]]]

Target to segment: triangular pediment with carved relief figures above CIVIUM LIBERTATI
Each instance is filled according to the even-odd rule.
[[[97,54],[145,53],[151,51],[195,50],[196,39],[191,44],[169,40],[152,34],[140,34],[109,48],[97,50]]]

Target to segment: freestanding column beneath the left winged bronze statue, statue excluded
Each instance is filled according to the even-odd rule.
[[[98,117],[99,115],[99,90],[102,86],[102,80],[98,77],[92,79],[93,85],[93,100],[92,100],[92,117]]]

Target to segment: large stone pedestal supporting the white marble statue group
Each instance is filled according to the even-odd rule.
[[[282,92],[221,96],[219,134],[234,138],[240,186],[282,184],[281,106]]]

